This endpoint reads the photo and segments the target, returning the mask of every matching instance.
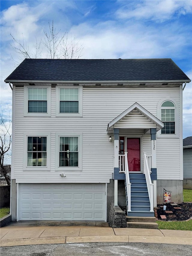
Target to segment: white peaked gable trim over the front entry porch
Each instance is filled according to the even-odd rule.
[[[137,110],[140,112],[143,116],[145,116],[147,119],[149,119],[152,123],[156,125],[157,131],[159,131],[161,128],[164,127],[164,123],[161,122],[157,117],[152,115],[149,111],[147,111],[144,107],[142,107],[140,104],[135,102],[131,107],[129,107],[127,110],[125,110],[123,113],[121,113],[119,116],[117,116],[115,119],[113,119],[107,127],[107,133],[110,131],[111,128],[114,128],[114,125],[117,124],[120,120],[124,119],[127,115],[129,115],[133,110]]]

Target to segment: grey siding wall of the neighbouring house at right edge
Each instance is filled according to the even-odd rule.
[[[183,178],[192,179],[192,148],[183,149]]]

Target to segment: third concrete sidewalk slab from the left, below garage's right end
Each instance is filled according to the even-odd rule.
[[[84,227],[80,230],[79,236],[115,236],[111,227]]]

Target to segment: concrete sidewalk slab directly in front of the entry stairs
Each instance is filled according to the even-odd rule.
[[[158,229],[148,228],[114,228],[116,236],[119,235],[131,235],[131,236],[163,236]]]

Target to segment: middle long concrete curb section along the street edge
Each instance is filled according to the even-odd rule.
[[[67,236],[66,243],[129,242],[129,236]]]

